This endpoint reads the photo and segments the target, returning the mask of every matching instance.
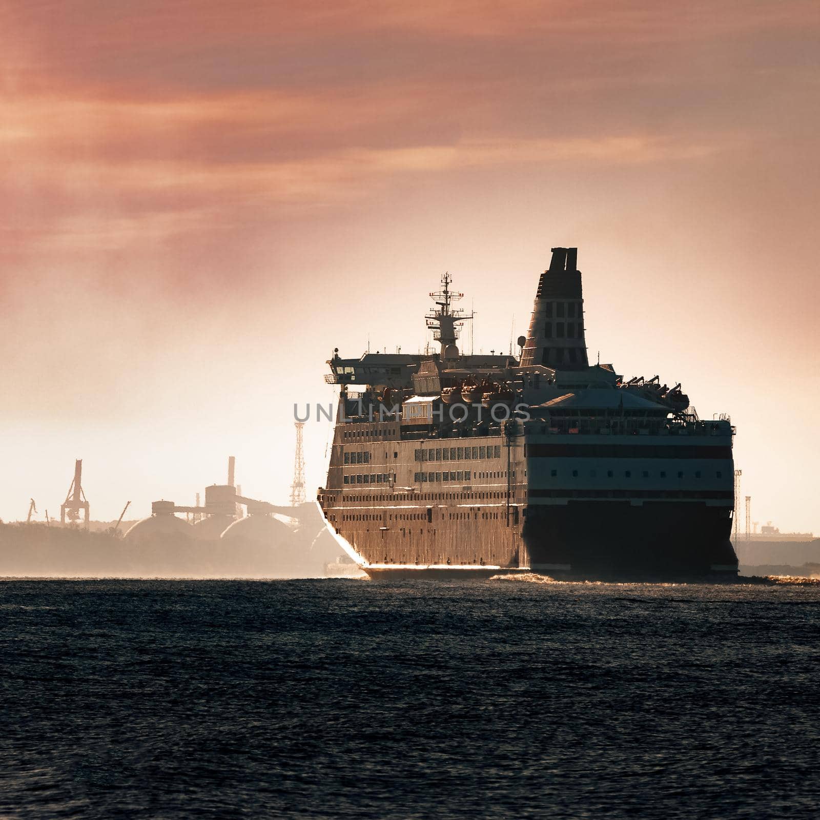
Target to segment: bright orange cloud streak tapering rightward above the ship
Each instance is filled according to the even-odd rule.
[[[271,114],[277,105],[281,110]],[[31,244],[38,253],[103,253],[173,235],[213,235],[230,229],[244,210],[265,208],[271,213],[272,208],[280,218],[304,217],[372,197],[377,189],[408,175],[503,166],[697,161],[732,144],[727,137],[692,142],[657,134],[461,137],[445,144],[316,147],[307,154],[283,150],[276,157],[259,144],[276,140],[281,130],[286,133],[298,116],[318,116],[321,106],[315,101],[277,100],[263,107],[247,99],[198,105],[92,105],[55,99],[24,108],[0,139],[8,150],[7,162],[0,162],[0,191],[5,202],[17,203],[5,225],[7,253],[15,244]],[[341,112],[321,114],[332,120]],[[49,127],[63,117],[65,128]],[[106,123],[112,121],[121,134],[116,139],[106,133]],[[208,148],[188,157],[173,156],[173,149],[170,157],[162,157],[162,151],[153,157],[153,151],[143,148],[167,134],[184,142],[205,140],[203,134],[208,134],[206,141],[212,141],[218,125],[262,134],[257,150],[238,150],[217,162],[208,156]],[[103,149],[83,150],[84,140],[96,134]]]

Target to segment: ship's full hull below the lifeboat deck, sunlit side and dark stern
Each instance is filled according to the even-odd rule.
[[[440,439],[361,421],[337,429],[318,500],[371,578],[731,580],[734,465],[720,425],[604,435],[534,421],[524,435]]]

